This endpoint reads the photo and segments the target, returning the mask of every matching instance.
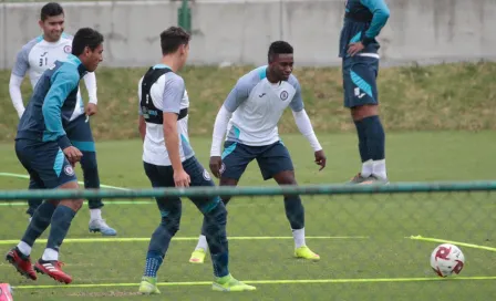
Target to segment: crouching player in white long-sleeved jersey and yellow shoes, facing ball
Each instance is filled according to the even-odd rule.
[[[293,48],[285,41],[273,42],[268,61],[268,66],[258,68],[238,80],[215,120],[210,170],[220,178],[220,186],[236,186],[252,159],[257,159],[265,180],[273,178],[279,185],[297,185],[291,157],[279,138],[277,127],[288,106],[299,131],[310,142],[320,170],[326,167],[326,155],[303,108],[300,84],[291,74]],[[221,198],[227,204],[230,197]],[[294,256],[319,260],[320,257],[304,241],[304,210],[300,197],[285,196],[285,208],[294,238]],[[189,259],[192,263],[204,262],[207,250],[205,229],[204,224]]]

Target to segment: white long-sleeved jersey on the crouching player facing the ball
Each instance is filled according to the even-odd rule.
[[[278,123],[288,106],[313,150],[322,149],[304,111],[297,77],[291,74],[288,81],[271,83],[266,74],[267,66],[260,66],[238,80],[217,114],[210,156],[220,156],[225,135],[226,141],[249,146],[278,142]]]

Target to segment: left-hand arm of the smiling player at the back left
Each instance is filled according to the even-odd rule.
[[[16,63],[10,74],[9,93],[13,107],[18,112],[19,118],[24,113],[24,103],[22,102],[21,84],[24,80],[25,72],[29,70],[28,51],[22,49],[19,51]]]

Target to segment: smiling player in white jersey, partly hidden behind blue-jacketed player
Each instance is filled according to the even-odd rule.
[[[42,7],[40,13],[40,28],[43,34],[31,40],[18,53],[16,64],[10,75],[10,97],[13,106],[18,111],[19,117],[24,113],[24,104],[21,95],[21,83],[29,74],[31,85],[34,89],[43,72],[50,68],[56,60],[63,60],[71,53],[72,37],[64,31],[64,11],[59,3],[51,2]],[[81,167],[84,175],[85,188],[100,188],[99,169],[96,165],[95,144],[90,127],[87,116],[96,113],[96,79],[95,74],[90,72],[84,76],[84,82],[90,95],[90,102],[84,110],[84,103],[81,93],[78,92],[78,105],[73,112],[68,112],[69,118],[63,123],[64,131],[71,141],[71,144],[83,153]],[[85,113],[85,114],[84,114]],[[37,181],[30,179],[30,189],[37,189]],[[40,206],[41,199],[28,200],[30,217]],[[116,231],[108,227],[102,218],[102,199],[89,199],[90,207],[90,231],[100,231],[104,236],[115,236]]]

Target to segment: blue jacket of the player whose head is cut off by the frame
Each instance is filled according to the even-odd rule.
[[[378,53],[375,38],[390,18],[390,9],[384,0],[348,0],[344,24],[341,30],[339,56],[347,58],[350,43],[362,42],[362,53]]]

